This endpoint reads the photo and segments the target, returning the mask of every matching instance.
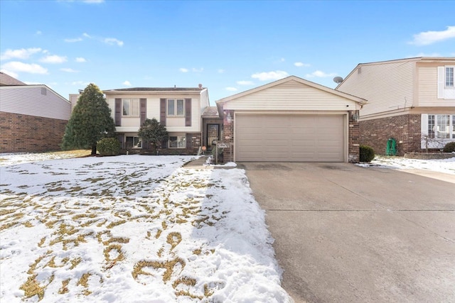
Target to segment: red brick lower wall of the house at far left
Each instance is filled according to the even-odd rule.
[[[0,153],[60,150],[68,121],[0,111]]]

